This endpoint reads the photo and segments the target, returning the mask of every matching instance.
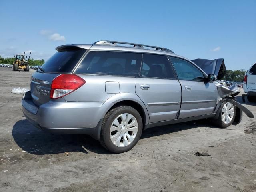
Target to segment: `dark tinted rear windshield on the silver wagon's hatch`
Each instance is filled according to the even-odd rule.
[[[68,48],[56,52],[41,67],[44,73],[70,73],[86,52],[81,48]],[[43,72],[38,69],[38,72]]]

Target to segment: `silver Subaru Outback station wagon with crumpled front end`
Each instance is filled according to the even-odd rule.
[[[218,85],[190,60],[167,48],[116,41],[62,45],[32,74],[24,115],[41,130],[88,134],[114,153],[132,149],[142,131],[214,118],[239,123],[234,90]]]

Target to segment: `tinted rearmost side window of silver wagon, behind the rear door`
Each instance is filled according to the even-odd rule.
[[[141,58],[140,53],[90,51],[76,73],[138,76]]]

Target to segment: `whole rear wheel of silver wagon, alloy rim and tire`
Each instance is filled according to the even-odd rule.
[[[131,150],[140,139],[142,118],[130,106],[118,106],[108,112],[102,122],[100,144],[110,152]]]

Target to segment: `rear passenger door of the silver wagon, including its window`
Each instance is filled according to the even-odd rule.
[[[181,88],[167,56],[143,54],[136,94],[147,107],[150,122],[176,119]]]

